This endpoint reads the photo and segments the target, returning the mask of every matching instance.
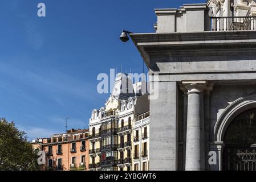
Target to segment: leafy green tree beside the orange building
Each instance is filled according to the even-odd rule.
[[[27,141],[26,133],[18,130],[14,122],[0,118],[0,170],[36,170],[37,158],[32,144]]]

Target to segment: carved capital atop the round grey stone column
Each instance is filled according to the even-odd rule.
[[[182,86],[181,86],[182,85]],[[190,93],[206,93],[209,94],[213,89],[213,84],[209,84],[207,80],[182,80],[180,89],[184,92],[188,90]]]

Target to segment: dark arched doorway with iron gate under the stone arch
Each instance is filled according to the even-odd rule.
[[[256,171],[256,108],[230,122],[224,135],[222,169]]]

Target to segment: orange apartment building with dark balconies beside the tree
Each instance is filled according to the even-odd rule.
[[[89,141],[88,129],[68,130],[67,133],[54,134],[51,138],[33,140],[34,149],[46,152],[46,165],[43,171],[88,170]]]

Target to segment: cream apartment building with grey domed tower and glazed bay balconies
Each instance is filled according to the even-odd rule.
[[[132,127],[139,114],[149,111],[146,82],[132,84],[133,92],[122,86],[132,84],[127,74],[116,75],[115,85],[105,107],[93,110],[90,118],[90,170],[132,170]]]

